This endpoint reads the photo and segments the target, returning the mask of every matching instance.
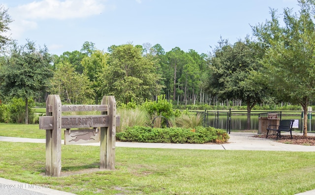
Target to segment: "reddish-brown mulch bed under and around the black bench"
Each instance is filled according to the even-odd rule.
[[[255,135],[254,137],[265,138],[265,135]],[[303,136],[303,135],[282,135],[277,141],[286,144],[315,146],[315,136]],[[268,135],[267,139],[274,139],[276,141],[277,135]]]

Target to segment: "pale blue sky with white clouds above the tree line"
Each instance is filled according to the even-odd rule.
[[[270,8],[299,11],[297,0],[1,0],[13,20],[7,36],[27,40],[49,53],[80,51],[84,42],[107,52],[111,45],[160,44],[199,54],[218,41],[252,36],[271,18]]]

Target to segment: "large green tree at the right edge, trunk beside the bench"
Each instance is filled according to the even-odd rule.
[[[277,11],[271,10],[271,20],[253,27],[253,34],[266,50],[260,75],[268,79],[274,96],[301,104],[304,109],[303,134],[307,136],[307,106],[315,97],[314,1],[299,0],[299,5],[299,14],[284,9],[283,27]]]

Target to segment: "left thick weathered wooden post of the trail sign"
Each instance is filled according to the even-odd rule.
[[[49,95],[46,101],[46,116],[53,117],[53,129],[46,130],[46,175],[61,176],[61,100],[58,95]]]

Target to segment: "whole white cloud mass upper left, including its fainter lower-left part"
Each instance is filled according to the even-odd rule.
[[[28,30],[37,28],[38,20],[86,18],[100,14],[106,0],[40,0],[17,7],[9,7],[13,19],[6,34],[18,39]]]

